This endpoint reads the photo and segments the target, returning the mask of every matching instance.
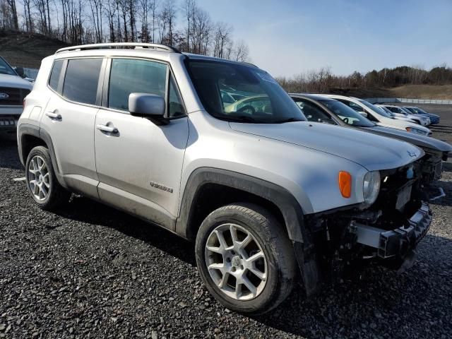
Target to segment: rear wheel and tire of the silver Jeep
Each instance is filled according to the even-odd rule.
[[[37,146],[28,154],[25,179],[28,193],[42,210],[56,210],[71,197],[71,193],[59,184],[49,150],[44,146]]]

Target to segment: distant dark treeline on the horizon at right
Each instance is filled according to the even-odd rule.
[[[402,85],[450,85],[452,69],[446,64],[429,71],[422,67],[400,66],[366,74],[354,72],[350,76],[335,76],[330,68],[300,73],[292,78],[277,79],[285,90],[293,93],[328,93],[332,88],[393,88]]]

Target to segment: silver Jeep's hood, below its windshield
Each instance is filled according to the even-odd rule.
[[[230,123],[234,131],[271,138],[362,165],[369,171],[404,166],[424,155],[415,145],[340,126],[309,121],[285,124]]]

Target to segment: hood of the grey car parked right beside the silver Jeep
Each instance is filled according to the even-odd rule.
[[[398,140],[412,143],[420,148],[429,148],[431,150],[439,150],[441,152],[452,152],[452,145],[444,141],[432,138],[430,136],[420,136],[419,134],[400,131],[399,129],[388,129],[382,126],[363,127],[366,131],[376,133],[381,136],[388,136]]]

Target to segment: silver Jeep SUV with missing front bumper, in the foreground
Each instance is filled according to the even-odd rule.
[[[40,208],[77,192],[196,239],[206,287],[246,314],[297,276],[310,296],[333,269],[406,266],[432,221],[420,148],[306,121],[266,71],[163,45],[45,58],[18,149]]]

